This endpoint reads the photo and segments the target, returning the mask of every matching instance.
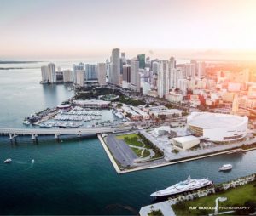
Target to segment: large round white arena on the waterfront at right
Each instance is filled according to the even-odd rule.
[[[192,112],[189,130],[196,136],[213,142],[230,142],[247,135],[247,117],[211,112]]]

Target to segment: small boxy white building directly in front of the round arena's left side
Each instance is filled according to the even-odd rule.
[[[195,145],[199,145],[200,139],[195,136],[175,137],[172,138],[172,144],[174,149],[185,151],[193,148]]]

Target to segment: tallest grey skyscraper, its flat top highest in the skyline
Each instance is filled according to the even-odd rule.
[[[109,81],[114,85],[119,85],[119,75],[120,75],[120,50],[119,48],[114,48],[112,50],[112,64],[111,71],[109,74]]]

